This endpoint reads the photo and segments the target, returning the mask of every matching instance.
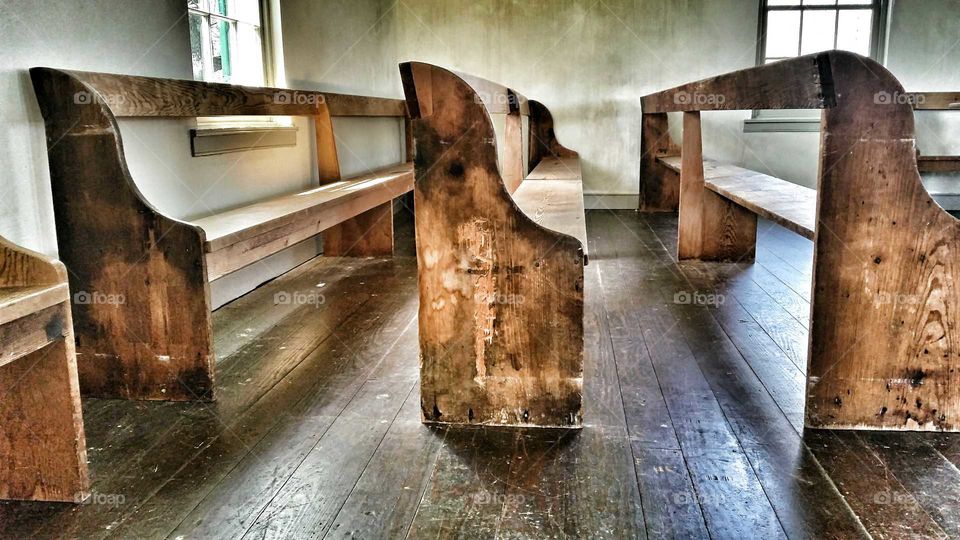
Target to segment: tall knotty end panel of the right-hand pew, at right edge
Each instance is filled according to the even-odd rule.
[[[923,187],[910,105],[874,99],[900,83],[851,54],[831,67],[807,425],[958,431],[960,224]]]

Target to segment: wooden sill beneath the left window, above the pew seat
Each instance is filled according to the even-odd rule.
[[[296,126],[198,127],[190,130],[190,151],[193,157],[296,145]]]

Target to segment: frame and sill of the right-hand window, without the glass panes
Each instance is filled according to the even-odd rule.
[[[799,11],[803,13],[804,11],[834,11],[838,13],[834,24],[834,34],[833,34],[833,45],[836,48],[837,40],[839,39],[839,24],[840,17],[839,12],[841,11],[851,11],[851,10],[864,10],[872,9],[873,18],[872,18],[872,27],[870,29],[870,58],[880,62],[881,64],[885,63],[885,43],[886,43],[886,30],[887,30],[887,19],[888,19],[888,9],[889,9],[889,0],[863,0],[858,4],[851,5],[840,5],[838,1],[834,1],[830,5],[801,5],[796,6],[771,6],[769,5],[769,0],[759,0],[760,11],[759,11],[759,25],[758,25],[758,34],[757,34],[757,59],[756,65],[762,66],[766,64],[767,55],[767,19],[771,11]],[[800,55],[801,47],[803,46],[803,16],[800,17],[800,34],[797,40],[797,55]],[[794,57],[789,57],[794,58]],[[783,60],[786,58],[777,58],[778,60]],[[747,133],[762,133],[762,132],[815,132],[820,130],[820,117],[817,115],[813,116],[803,116],[803,115],[783,115],[779,114],[780,111],[759,111],[754,110],[750,118],[744,121],[744,132]]]

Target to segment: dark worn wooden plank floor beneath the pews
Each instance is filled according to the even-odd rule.
[[[803,431],[809,241],[678,264],[673,216],[587,223],[582,431],[419,422],[406,224],[218,310],[217,403],[84,400],[94,497],[0,538],[960,538],[960,436]]]

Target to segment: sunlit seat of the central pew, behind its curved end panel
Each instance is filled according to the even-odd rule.
[[[513,200],[537,224],[579,240],[587,264],[580,158],[544,159],[513,192]]]

